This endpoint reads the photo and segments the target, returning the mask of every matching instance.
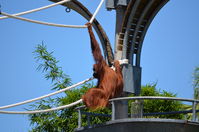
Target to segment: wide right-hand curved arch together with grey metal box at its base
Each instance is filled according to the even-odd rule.
[[[129,65],[123,69],[126,92],[136,95],[140,93],[140,59],[144,37],[152,20],[167,2],[168,0],[131,0],[125,8],[116,49],[117,52],[122,52],[121,58],[129,60]]]

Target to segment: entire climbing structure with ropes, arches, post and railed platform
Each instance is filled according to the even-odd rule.
[[[116,10],[116,41],[115,41],[115,51],[113,54],[110,41],[103,30],[102,26],[99,22],[95,19],[94,15],[89,12],[89,10],[83,6],[77,0],[49,0],[55,2],[55,4],[46,6],[43,8],[38,8],[35,10],[18,13],[15,15],[6,14],[4,12],[0,12],[1,15],[5,17],[0,17],[4,19],[6,17],[12,17],[15,19],[20,19],[24,21],[34,22],[38,24],[44,25],[51,25],[51,26],[58,26],[58,27],[73,27],[73,28],[86,28],[85,25],[82,26],[74,26],[74,25],[60,25],[60,24],[52,24],[40,21],[34,21],[22,17],[18,17],[19,15],[28,14],[31,12],[39,11],[42,9],[46,9],[58,4],[70,8],[80,15],[82,15],[85,19],[89,22],[92,21],[93,27],[101,41],[101,45],[104,51],[104,56],[107,60],[109,65],[112,64],[114,59],[122,60],[128,59],[128,64],[123,66],[123,77],[124,77],[124,93],[127,95],[128,93],[134,93],[138,95],[141,89],[141,51],[142,45],[147,33],[147,30],[153,21],[156,14],[159,10],[169,1],[169,0],[107,0],[106,7],[108,10]],[[100,5],[104,0],[101,0]],[[0,107],[0,113],[3,114],[34,114],[34,113],[42,113],[42,112],[49,112],[54,110],[65,109],[74,105],[77,105],[82,102],[82,100],[78,100],[71,104],[60,106],[52,109],[47,110],[37,110],[37,111],[2,111],[1,109],[7,109],[10,107],[15,107],[18,105],[30,103],[39,99],[43,99],[66,90],[69,90],[73,87],[81,85],[87,81],[92,80],[93,78],[89,78],[73,86],[68,88],[62,89],[60,91],[44,95],[38,98],[34,98],[31,100],[26,100],[23,102],[19,102],[16,104],[11,104],[7,106]],[[124,94],[124,95],[125,95]],[[127,101],[128,100],[144,100],[144,99],[161,99],[161,100],[180,100],[180,101],[187,101],[192,103],[192,122],[187,122],[184,120],[171,120],[171,119],[126,119],[128,117],[128,107]],[[196,104],[199,103],[199,100],[192,100],[192,99],[183,99],[183,98],[172,98],[172,97],[122,97],[110,100],[112,104],[112,121],[106,123],[105,125],[93,128],[82,128],[81,127],[81,110],[78,109],[79,112],[79,120],[78,120],[78,129],[77,131],[85,131],[85,132],[99,132],[99,131],[114,131],[114,132],[130,132],[130,131],[137,131],[137,132],[155,132],[155,131],[164,131],[164,132],[176,132],[179,129],[182,132],[198,132],[199,124],[196,123]],[[142,126],[146,127],[142,127]],[[140,129],[142,128],[142,129]]]

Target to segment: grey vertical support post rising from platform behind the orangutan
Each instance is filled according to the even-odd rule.
[[[106,8],[108,10],[116,10],[116,27],[115,27],[115,50],[114,59],[121,60],[123,47],[119,45],[119,35],[122,33],[122,22],[129,0],[107,0]],[[125,73],[123,72],[123,76]],[[124,81],[125,82],[125,81]],[[133,83],[133,82],[132,82]],[[123,96],[127,96],[127,92],[123,92]],[[112,120],[128,118],[128,101],[115,101],[112,104]]]

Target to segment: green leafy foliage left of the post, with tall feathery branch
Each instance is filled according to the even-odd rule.
[[[33,52],[36,56],[39,66],[37,70],[42,71],[45,74],[47,80],[53,82],[54,90],[59,90],[71,85],[71,79],[68,75],[64,74],[61,67],[58,67],[58,62],[55,57],[53,57],[53,52],[48,52],[47,47],[42,43],[36,47]],[[77,101],[81,96],[91,87],[94,87],[92,83],[87,83],[79,88],[69,90],[65,92],[63,97],[56,97],[55,99],[48,98],[46,100],[41,100],[31,105],[31,110],[49,109],[52,107],[62,106],[70,104]],[[74,107],[53,111],[48,113],[37,113],[29,115],[32,130],[30,132],[72,132],[77,128],[78,113],[75,109],[80,105]],[[90,112],[85,109],[85,111]],[[109,109],[98,110],[96,112],[108,114]],[[91,117],[92,124],[99,124],[109,120],[109,118],[104,117]],[[87,126],[87,117],[82,116],[83,126]]]

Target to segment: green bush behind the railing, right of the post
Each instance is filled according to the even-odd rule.
[[[141,96],[163,96],[163,97],[176,97],[176,94],[167,91],[158,91],[156,84],[146,85],[142,87]],[[169,112],[182,110],[183,104],[179,101],[169,100],[145,100],[144,101],[144,113],[156,113],[156,112]],[[170,118],[170,119],[183,119],[182,114],[171,115],[157,115],[155,118]]]

